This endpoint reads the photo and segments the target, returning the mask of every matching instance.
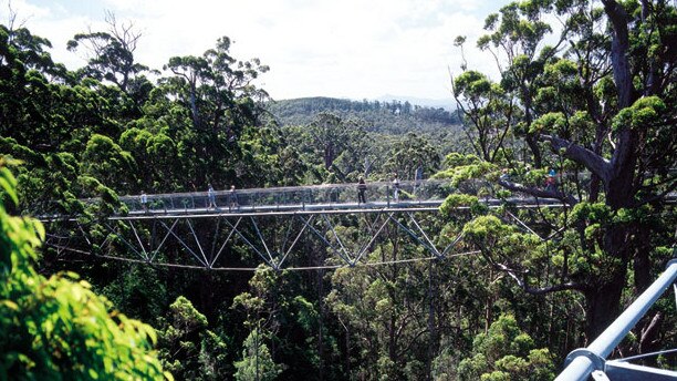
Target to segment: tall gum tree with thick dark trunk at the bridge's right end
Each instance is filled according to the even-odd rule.
[[[561,34],[554,48],[539,48],[549,13],[561,22]],[[573,207],[569,229],[580,236],[576,250],[598,259],[590,260],[594,269],[571,272],[565,256],[555,285],[522,285],[532,294],[574,289],[584,295],[589,339],[618,315],[628,271],[639,292],[650,284],[652,270],[662,267],[649,256],[666,244],[656,238],[662,224],[656,216],[677,187],[670,173],[677,144],[670,132],[676,64],[670,25],[676,14],[665,1],[522,1],[490,16],[491,34],[478,42],[480,49],[496,48],[497,62],[503,62],[496,53],[500,50],[508,58],[500,83],[523,113],[511,128],[530,147],[524,163],[591,174],[585,183],[577,175],[561,176],[555,189],[522,185],[514,177],[499,181],[507,189],[559,198]],[[455,95],[472,109],[462,79],[455,83],[461,90]],[[494,164],[529,173],[515,169],[509,157],[496,157]],[[502,266],[513,275],[525,274],[527,265]]]

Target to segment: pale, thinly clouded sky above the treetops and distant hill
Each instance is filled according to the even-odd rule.
[[[259,58],[270,71],[259,85],[275,100],[451,100],[449,72],[460,72],[457,35],[469,69],[496,73],[475,43],[485,18],[507,0],[0,0],[0,23],[15,23],[52,43],[73,70],[83,52],[66,51],[75,33],[105,31],[106,11],[142,33],[137,62],[162,70],[169,58],[201,55],[218,38],[238,60]]]

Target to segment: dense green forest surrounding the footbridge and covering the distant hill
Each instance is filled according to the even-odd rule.
[[[135,59],[140,32],[106,21],[67,42],[90,58],[74,71],[52,60],[49,37],[0,25],[0,379],[548,380],[674,257],[668,2],[497,10],[477,49],[501,76],[464,61],[454,114],[274,102],[258,85],[269,68],[232,56],[228,37],[154,71]],[[461,55],[475,49],[449,38]],[[95,245],[64,255],[31,217],[73,216],[104,235],[124,195],[413,179],[418,167],[479,187],[425,217],[436,244],[462,236],[458,253],[476,254],[419,260],[416,243],[386,231],[365,258],[400,262],[273,270],[235,245],[225,256],[256,271],[195,270],[110,260]],[[482,194],[504,203],[489,209]],[[513,194],[564,206],[520,209]],[[351,241],[358,218],[337,223]],[[308,241],[290,261],[331,254]],[[615,356],[674,348],[675,312],[674,298],[659,300]]]

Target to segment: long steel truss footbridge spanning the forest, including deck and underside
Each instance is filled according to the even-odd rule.
[[[487,184],[451,189],[445,181],[400,182],[395,198],[392,183],[369,183],[366,203],[357,203],[355,184],[154,194],[146,195],[145,203],[137,195],[121,197],[124,207],[96,219],[96,231],[92,231],[92,223],[85,223],[82,216],[54,214],[42,215],[40,219],[46,225],[46,246],[55,249],[58,256],[79,253],[158,266],[256,270],[251,265],[233,260],[229,250],[241,246],[251,250],[259,262],[275,270],[338,268],[375,265],[367,260],[368,253],[385,239],[386,233],[404,234],[429,254],[426,258],[399,261],[477,253],[454,251],[461,236],[438,247],[431,237],[439,235],[440,227],[435,230],[429,226],[434,224],[424,223],[424,219],[439,213],[449,194],[477,194],[480,188],[486,189]],[[100,200],[84,203],[95,205]],[[555,199],[532,197],[497,199],[485,196],[480,203],[489,208],[562,206]],[[457,207],[459,210],[468,208]],[[506,212],[503,217],[534,233],[514,214]],[[366,238],[356,243],[346,237],[342,227],[345,224]],[[332,254],[329,264],[299,265],[303,260],[294,260],[295,265],[289,265],[289,259],[302,250],[302,243],[308,239],[320,243]],[[168,245],[178,246],[183,255],[173,258],[163,255]]]

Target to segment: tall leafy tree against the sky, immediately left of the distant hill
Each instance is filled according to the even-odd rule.
[[[165,70],[174,75],[160,83],[162,92],[176,97],[184,109],[181,113],[189,115],[191,125],[176,126],[181,131],[183,142],[178,144],[184,147],[186,159],[195,158],[195,177],[200,183],[207,177],[218,183],[232,182],[244,175],[244,168],[232,168],[241,161],[256,158],[248,157],[243,144],[262,138],[260,103],[267,93],[257,87],[256,80],[268,66],[258,59],[235,59],[229,52],[230,44],[230,39],[222,37],[201,56],[170,58]]]

